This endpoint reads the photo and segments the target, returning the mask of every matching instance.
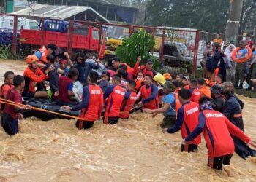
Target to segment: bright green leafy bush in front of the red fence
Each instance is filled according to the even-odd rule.
[[[143,61],[151,58],[148,51],[153,49],[154,44],[154,37],[146,33],[145,30],[141,30],[138,33],[133,33],[129,38],[124,38],[123,44],[116,49],[116,56],[122,62],[133,67],[138,56],[141,56]],[[158,63],[155,58],[153,61],[155,64]]]

